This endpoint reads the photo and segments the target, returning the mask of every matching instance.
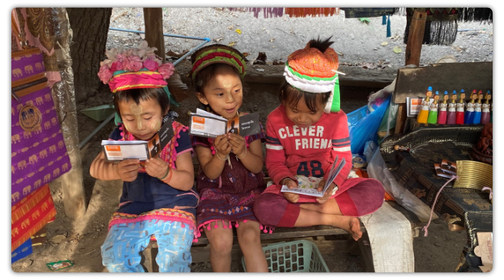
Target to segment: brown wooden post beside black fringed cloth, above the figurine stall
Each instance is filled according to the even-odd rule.
[[[427,12],[415,10],[411,19],[410,31],[407,36],[406,65],[420,65],[420,53],[424,40],[425,20]]]

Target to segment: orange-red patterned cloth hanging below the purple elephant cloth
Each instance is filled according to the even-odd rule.
[[[43,185],[11,207],[11,252],[31,239],[56,216],[49,185]]]

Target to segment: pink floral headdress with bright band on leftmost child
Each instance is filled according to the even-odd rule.
[[[147,41],[142,41],[138,48],[111,48],[106,50],[106,60],[100,63],[98,77],[110,90],[145,87],[163,87],[170,99],[176,104],[168,91],[168,79],[175,67],[172,63],[161,64],[162,60],[154,54],[157,48],[149,48]]]

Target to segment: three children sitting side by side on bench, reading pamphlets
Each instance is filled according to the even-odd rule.
[[[145,165],[135,160],[114,164],[104,161],[103,153],[97,156],[91,166],[94,178],[125,181],[119,210],[114,212],[102,246],[103,263],[109,271],[143,271],[139,252],[147,247],[150,235],[158,239],[160,271],[190,271],[190,246],[200,231],[211,244],[212,270],[230,271],[233,225],[251,272],[268,271],[261,230],[332,225],[346,230],[355,240],[361,238],[358,217],[378,210],[385,190],[374,179],[347,178],[351,170],[349,129],[346,114],[339,108],[338,55],[329,40],[311,40],[289,55],[279,90],[280,105],[268,114],[265,133],[261,126],[261,133],[252,136],[192,136],[191,147],[187,127],[173,122],[173,143],[163,149],[160,158]],[[131,92],[120,97],[125,95],[123,89],[112,90],[114,99],[121,100],[116,109],[123,122],[122,131],[116,129],[113,135],[117,136],[112,138],[149,139],[168,113],[170,98],[160,95],[169,92],[159,89],[166,86],[164,79],[172,72],[160,65],[153,53],[145,61],[155,65],[144,61],[143,68],[136,71],[117,72],[124,69],[114,69],[118,62],[127,65],[138,61],[127,55],[118,57],[108,62],[109,72],[101,68],[99,74],[111,89],[125,85],[126,92]],[[243,55],[226,45],[209,45],[191,58],[192,80],[202,107],[226,119],[246,114],[239,112],[246,70]],[[110,69],[114,70],[112,75]],[[192,149],[199,161],[197,193],[192,190],[194,172],[187,153]],[[321,191],[336,157],[345,158],[346,164],[322,198],[280,192],[282,185],[295,188],[304,178],[318,178]],[[268,188],[263,183],[264,161],[273,180]],[[160,225],[153,226],[152,221]],[[127,231],[122,236],[126,228],[136,233]],[[166,242],[161,241],[162,245],[160,239]],[[140,246],[134,249],[131,244]],[[178,254],[170,254],[173,251]],[[128,259],[121,257],[126,252]]]

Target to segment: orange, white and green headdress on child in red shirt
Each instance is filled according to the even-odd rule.
[[[307,43],[290,54],[283,75],[292,87],[305,92],[331,92],[325,113],[339,112],[338,54],[333,48],[322,53]]]

